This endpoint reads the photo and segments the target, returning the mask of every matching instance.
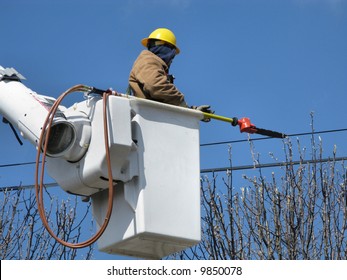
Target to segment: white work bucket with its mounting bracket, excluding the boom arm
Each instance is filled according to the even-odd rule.
[[[69,110],[69,109],[68,109]],[[75,105],[91,121],[88,152],[78,162],[47,158],[47,171],[67,192],[90,196],[99,226],[107,212],[108,178],[102,100]],[[199,112],[110,96],[109,148],[117,181],[100,251],[162,258],[200,241]]]

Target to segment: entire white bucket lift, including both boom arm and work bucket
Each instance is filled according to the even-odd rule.
[[[0,114],[38,149],[55,99],[0,68]],[[20,102],[18,102],[20,100]],[[201,112],[150,100],[110,96],[108,140],[116,181],[100,251],[162,258],[200,241],[199,122]],[[90,95],[59,106],[51,124],[47,172],[68,193],[89,196],[99,226],[107,212],[108,172],[102,99]]]

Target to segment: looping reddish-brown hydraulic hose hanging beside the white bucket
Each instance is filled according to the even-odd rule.
[[[87,87],[84,85],[76,85],[74,87],[71,87],[67,91],[65,91],[53,104],[51,109],[49,110],[49,113],[47,115],[47,118],[44,122],[38,149],[37,149],[37,157],[36,157],[36,169],[35,169],[35,195],[36,200],[38,204],[38,210],[41,217],[41,220],[43,222],[43,225],[45,226],[46,230],[49,232],[49,234],[60,244],[72,248],[72,249],[79,249],[84,248],[92,245],[94,242],[96,242],[101,235],[104,233],[112,214],[113,209],[113,194],[114,194],[114,184],[113,184],[113,176],[112,176],[112,168],[111,168],[111,157],[110,157],[110,151],[109,151],[109,143],[108,143],[108,125],[107,125],[107,99],[108,96],[111,94],[110,92],[105,92],[103,94],[103,118],[104,118],[104,140],[105,140],[105,150],[106,150],[106,161],[107,161],[107,171],[108,171],[108,207],[106,216],[104,219],[103,224],[99,228],[99,230],[95,233],[94,236],[89,238],[88,240],[80,243],[70,243],[65,240],[62,240],[59,238],[50,228],[47,217],[45,214],[44,209],[44,203],[43,203],[43,177],[45,172],[45,160],[46,160],[46,154],[47,154],[47,147],[48,147],[48,139],[50,134],[50,129],[52,126],[54,115],[58,109],[58,106],[62,102],[62,100],[70,93],[76,92],[76,91],[86,91]],[[41,147],[42,152],[41,152]],[[39,178],[39,168],[40,168],[40,156],[42,153],[42,159],[41,159],[41,173]]]

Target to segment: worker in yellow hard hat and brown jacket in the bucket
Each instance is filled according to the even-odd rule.
[[[174,33],[167,28],[158,28],[141,43],[147,50],[143,50],[134,62],[129,76],[130,92],[136,97],[188,107],[183,93],[176,88],[174,78],[169,74],[172,60],[180,53]],[[213,113],[208,105],[191,108]]]

